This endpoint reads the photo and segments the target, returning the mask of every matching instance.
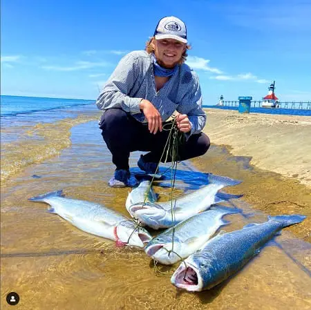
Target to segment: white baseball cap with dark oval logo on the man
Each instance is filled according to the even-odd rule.
[[[183,21],[177,17],[163,17],[158,22],[154,32],[156,40],[176,39],[182,43],[187,43],[187,28]]]

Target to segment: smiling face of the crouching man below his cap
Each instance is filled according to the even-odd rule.
[[[153,39],[153,48],[158,64],[164,68],[173,68],[182,59],[186,43],[176,39]]]

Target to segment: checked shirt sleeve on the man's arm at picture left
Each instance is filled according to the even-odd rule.
[[[137,55],[131,52],[120,60],[96,100],[97,108],[100,110],[122,108],[131,114],[140,113],[142,98],[129,97],[129,92],[139,74],[135,59]]]

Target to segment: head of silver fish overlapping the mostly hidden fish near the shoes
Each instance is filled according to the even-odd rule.
[[[160,204],[151,202],[133,204],[133,206],[129,208],[129,212],[133,213],[133,217],[153,229],[159,229],[161,227],[160,222],[164,220],[164,217],[167,215],[167,211],[163,209]]]

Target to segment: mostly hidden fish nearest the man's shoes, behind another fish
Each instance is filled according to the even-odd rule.
[[[135,217],[133,213],[129,210],[130,206],[133,204],[138,204],[142,202],[156,202],[158,200],[158,195],[153,191],[151,182],[149,180],[142,181],[132,189],[131,193],[126,198],[125,207],[130,213],[131,217]]]

